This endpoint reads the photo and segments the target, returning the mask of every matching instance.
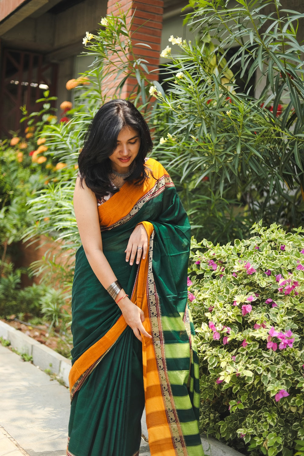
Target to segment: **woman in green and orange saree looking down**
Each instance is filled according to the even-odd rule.
[[[190,227],[151,149],[139,111],[112,100],[79,155],[69,456],[138,455],[144,406],[151,455],[203,455]]]

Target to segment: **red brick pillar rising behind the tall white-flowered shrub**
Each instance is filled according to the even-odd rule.
[[[144,46],[133,47],[133,52],[136,53],[136,56],[143,57],[149,62],[147,64],[149,71],[157,70],[159,67],[161,52],[160,41],[164,12],[163,6],[163,0],[119,1],[119,7],[125,12],[125,14],[127,14],[127,11],[129,10],[127,20],[134,14],[132,26],[132,31],[134,31],[134,33],[132,35],[132,44],[146,43],[151,47],[151,49]],[[117,0],[108,0],[107,14],[113,14],[114,16],[119,15]],[[139,30],[135,31],[138,27],[140,27]],[[118,85],[123,78],[124,75],[121,76],[120,80],[115,81],[115,85]],[[149,74],[149,79],[151,81],[158,80],[157,72]],[[135,78],[128,78],[124,83],[121,98],[127,98],[136,83],[137,81]],[[107,84],[107,88],[110,89],[110,87],[111,83],[109,85]],[[108,98],[111,98],[110,92],[111,90],[109,90]]]

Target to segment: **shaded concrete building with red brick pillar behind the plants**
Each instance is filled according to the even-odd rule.
[[[119,4],[125,11],[131,8],[130,15],[135,11],[134,24],[142,26],[137,39],[151,46],[139,52],[155,69],[171,34],[187,39],[191,35],[182,25],[180,12],[186,0],[121,0]],[[91,63],[90,57],[81,56],[83,36],[86,31],[94,33],[101,18],[111,12],[118,13],[116,0],[0,0],[2,136],[23,128],[20,106],[26,105],[29,113],[37,111],[36,99],[46,88],[58,97],[57,105],[70,99],[67,80]]]

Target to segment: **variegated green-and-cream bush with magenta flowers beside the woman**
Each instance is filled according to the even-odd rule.
[[[253,225],[248,240],[192,242],[201,431],[251,455],[304,440],[304,230]]]

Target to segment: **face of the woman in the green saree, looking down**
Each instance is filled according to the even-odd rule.
[[[139,147],[140,136],[138,130],[134,130],[128,125],[120,130],[116,149],[109,156],[113,170],[121,174],[128,172],[137,157]]]

